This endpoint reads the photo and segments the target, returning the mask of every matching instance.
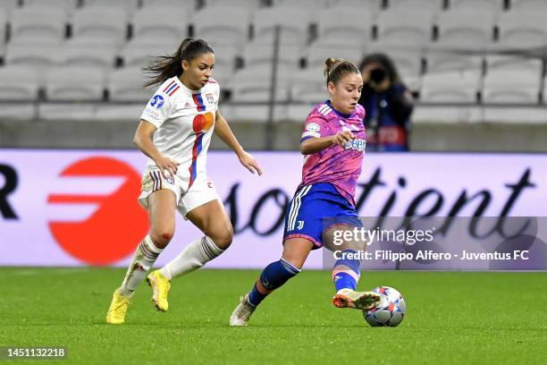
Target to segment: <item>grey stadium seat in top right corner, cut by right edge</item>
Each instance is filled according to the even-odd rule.
[[[547,12],[512,10],[498,21],[502,47],[540,47],[547,45]]]

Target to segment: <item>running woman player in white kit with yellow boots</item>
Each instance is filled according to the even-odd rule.
[[[146,86],[161,84],[142,113],[134,138],[149,157],[139,202],[147,208],[151,227],[137,247],[122,286],[114,292],[107,323],[124,322],[137,285],[173,237],[175,208],[204,236],[147,276],[157,310],[168,309],[167,294],[174,277],[202,267],[230,246],[230,218],[206,176],[206,152],[214,131],[243,166],[262,174],[218,111],[220,87],[211,78],[214,64],[213,49],[204,40],[186,38],[174,55],[159,57],[145,69],[155,75]]]

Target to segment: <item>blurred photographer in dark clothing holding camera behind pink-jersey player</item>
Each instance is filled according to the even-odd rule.
[[[365,107],[366,150],[408,151],[414,100],[387,55],[367,55],[359,66]]]

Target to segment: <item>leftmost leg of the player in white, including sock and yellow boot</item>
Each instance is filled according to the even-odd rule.
[[[167,189],[154,191],[147,197],[150,232],[139,243],[122,286],[114,292],[113,301],[106,315],[108,323],[123,323],[130,297],[171,241],[175,227],[175,199],[173,191]]]

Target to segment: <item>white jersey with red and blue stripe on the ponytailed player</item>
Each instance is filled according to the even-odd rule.
[[[188,182],[206,178],[206,153],[215,129],[215,114],[220,97],[218,82],[209,79],[195,91],[188,89],[178,77],[172,77],[156,90],[140,116],[156,125],[154,146],[177,161],[178,177]],[[157,168],[148,158],[148,168]]]

